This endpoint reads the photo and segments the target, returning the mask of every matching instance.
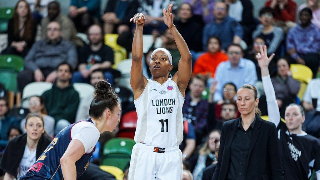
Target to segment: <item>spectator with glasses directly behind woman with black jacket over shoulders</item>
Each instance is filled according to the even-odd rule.
[[[32,96],[29,98],[29,112],[30,113],[38,113],[43,117],[44,120],[44,129],[48,135],[53,137],[54,135],[54,119],[46,114],[46,110],[44,109],[44,101],[41,96]],[[22,119],[20,122],[20,128],[23,133],[26,133],[24,129],[26,124],[26,118]]]

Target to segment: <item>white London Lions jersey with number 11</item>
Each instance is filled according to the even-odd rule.
[[[168,148],[183,139],[182,106],[184,98],[174,81],[164,84],[148,79],[140,97],[134,100],[138,114],[136,142]]]

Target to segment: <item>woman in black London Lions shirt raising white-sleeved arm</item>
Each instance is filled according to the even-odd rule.
[[[285,123],[281,120],[275,90],[268,70],[272,58],[266,58],[266,46],[260,46],[260,52],[261,54],[258,53],[257,58],[267,98],[269,121],[275,123],[278,130],[284,180],[310,179],[313,170],[316,172],[317,180],[320,180],[320,141],[302,131],[305,115],[300,105],[290,104],[287,106],[284,116]]]

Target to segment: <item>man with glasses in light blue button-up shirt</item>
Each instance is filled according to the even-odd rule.
[[[252,61],[243,58],[242,48],[237,44],[228,47],[228,61],[221,62],[215,72],[217,81],[217,92],[213,96],[213,101],[223,100],[223,86],[232,82],[236,89],[244,84],[255,84],[257,73]]]

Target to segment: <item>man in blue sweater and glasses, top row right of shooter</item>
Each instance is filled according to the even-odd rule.
[[[226,50],[231,43],[239,44],[243,37],[241,25],[228,16],[228,4],[217,2],[213,8],[214,19],[204,27],[202,45],[204,51],[207,50],[209,37],[219,37],[221,49]]]

